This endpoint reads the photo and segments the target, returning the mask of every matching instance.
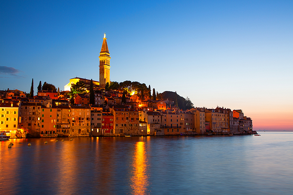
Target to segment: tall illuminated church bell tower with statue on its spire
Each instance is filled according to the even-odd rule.
[[[103,45],[100,52],[100,87],[105,88],[106,83],[110,84],[110,53],[107,45],[106,33],[104,33]]]

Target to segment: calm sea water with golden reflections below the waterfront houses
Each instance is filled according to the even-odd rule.
[[[293,133],[260,135],[0,141],[0,194],[292,195]]]

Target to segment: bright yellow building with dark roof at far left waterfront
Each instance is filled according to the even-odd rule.
[[[0,130],[16,131],[18,126],[18,114],[20,103],[4,102],[0,105]]]

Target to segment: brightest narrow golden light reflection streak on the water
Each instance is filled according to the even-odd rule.
[[[131,177],[132,194],[149,194],[147,187],[149,186],[146,158],[145,142],[139,141],[135,144],[135,153],[133,156],[133,176]]]

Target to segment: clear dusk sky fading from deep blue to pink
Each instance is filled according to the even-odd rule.
[[[110,80],[242,109],[254,130],[293,130],[293,1],[1,1],[0,89]]]

